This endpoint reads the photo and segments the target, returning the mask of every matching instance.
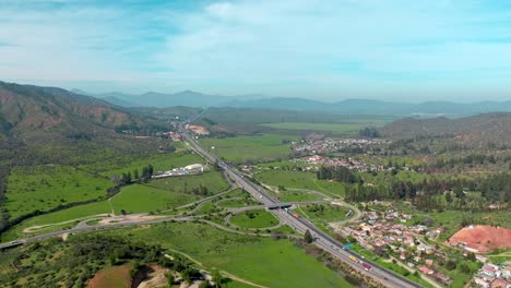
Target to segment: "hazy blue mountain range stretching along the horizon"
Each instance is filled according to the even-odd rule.
[[[262,95],[218,96],[192,91],[175,94],[147,92],[141,95],[107,93],[91,95],[121,107],[231,107],[263,108],[293,111],[323,111],[343,115],[397,115],[423,117],[461,117],[467,115],[511,111],[511,100],[508,101],[425,101],[419,104],[384,101],[373,99],[345,99],[328,103],[298,97],[265,97]]]

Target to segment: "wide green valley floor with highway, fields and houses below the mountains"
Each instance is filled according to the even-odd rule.
[[[414,134],[408,130],[416,131],[416,120],[381,116],[332,120],[283,110],[269,118],[265,110],[222,108],[215,117],[217,108],[154,109],[154,118],[123,110],[138,120],[104,123],[100,133],[84,139],[70,137],[66,122],[44,122],[41,136],[24,120],[5,125],[2,283],[85,287],[118,268],[124,271],[122,286],[134,279],[130,273],[152,267],[197,285],[219,271],[222,287],[464,287],[480,278],[484,265],[509,261],[510,247],[477,253],[485,264],[470,247],[445,243],[472,225],[511,229],[511,154],[502,144],[510,115],[420,120],[428,132]],[[190,120],[210,133],[185,131],[182,122]],[[445,130],[444,121],[456,124]],[[16,143],[22,148],[9,154]],[[195,164],[204,167],[198,175],[154,178]],[[312,239],[302,236],[308,225]],[[397,237],[389,233],[397,227]],[[75,260],[75,268],[60,266],[71,259],[57,248],[76,251],[82,239],[99,245],[109,238],[119,245],[144,243],[138,249],[154,256],[107,250]],[[27,251],[33,256],[24,259]],[[364,268],[367,263],[371,269]],[[297,273],[305,266],[307,274]],[[275,278],[275,269],[288,276]]]

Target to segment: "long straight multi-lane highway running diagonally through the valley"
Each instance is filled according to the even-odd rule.
[[[203,157],[209,159],[211,163],[217,163],[217,165],[225,170],[225,172],[235,181],[237,182],[242,189],[249,192],[253,197],[258,201],[262,202],[265,206],[268,205],[275,205],[278,203],[276,199],[270,195],[264,189],[260,188],[259,185],[254,184],[253,182],[247,180],[241,172],[237,169],[230,167],[225,161],[219,159],[217,156],[213,155],[211,152],[204,149],[194,139],[192,135],[188,133],[182,127],[180,127],[180,131],[182,133],[183,140],[189,143],[192,148],[201,154]],[[321,249],[330,252],[331,254],[335,255],[336,257],[341,259],[342,261],[348,263],[354,268],[366,273],[375,277],[378,281],[382,283],[388,287],[421,287],[420,285],[397,275],[389,269],[385,269],[376,263],[367,261],[363,259],[360,255],[356,254],[353,251],[344,250],[344,245],[331,238],[329,235],[321,231],[317,228],[312,223],[304,219],[301,217],[294,217],[293,213],[287,211],[272,211],[272,213],[281,219],[282,223],[285,223],[289,227],[296,229],[300,233],[305,233],[307,230],[311,232],[314,237],[314,244],[320,247]],[[357,262],[349,260],[349,256],[354,256],[357,259]],[[365,269],[361,266],[361,263],[368,263],[372,266],[371,269]]]

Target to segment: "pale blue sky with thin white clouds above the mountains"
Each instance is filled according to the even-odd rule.
[[[511,99],[511,2],[0,0],[0,80],[90,93]]]

